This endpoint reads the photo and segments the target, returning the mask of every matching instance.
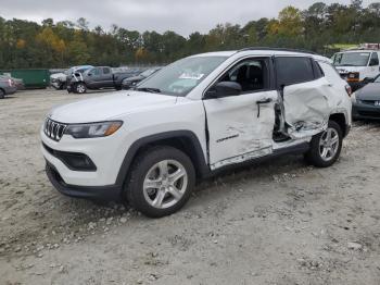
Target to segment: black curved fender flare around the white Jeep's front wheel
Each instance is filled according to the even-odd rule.
[[[121,170],[118,171],[117,178],[116,178],[116,185],[119,187],[123,187],[123,184],[128,175],[129,168],[137,154],[137,152],[143,147],[149,144],[154,144],[156,141],[163,140],[163,139],[169,139],[169,138],[186,138],[191,141],[190,150],[193,153],[193,157],[190,157],[190,159],[194,163],[194,169],[197,172],[201,175],[201,177],[206,177],[210,175],[211,170],[210,166],[206,163],[206,160],[203,154],[202,146],[197,137],[197,135],[191,131],[172,131],[172,132],[165,132],[160,134],[154,134],[151,136],[142,137],[136,140],[130,148],[128,149]]]

